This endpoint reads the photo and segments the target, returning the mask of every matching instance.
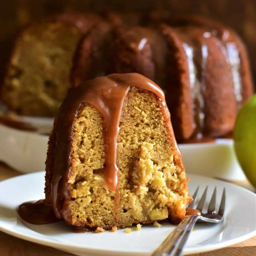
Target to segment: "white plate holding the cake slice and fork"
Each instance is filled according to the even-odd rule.
[[[242,187],[212,178],[188,175],[189,189],[209,186],[209,194],[217,186],[218,201],[223,187],[227,191],[226,215],[221,224],[198,223],[192,232],[184,253],[214,250],[238,243],[256,235],[256,195]],[[18,176],[0,183],[0,230],[42,245],[77,255],[150,255],[174,228],[163,223],[161,228],[143,225],[140,231],[73,233],[71,227],[60,221],[47,225],[23,222],[16,207],[30,200],[44,198],[44,172]],[[217,202],[218,202],[217,201]],[[134,228],[133,228],[134,229]]]

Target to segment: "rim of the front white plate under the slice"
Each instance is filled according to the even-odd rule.
[[[12,177],[12,178],[1,181],[0,186],[3,183],[5,183],[6,181],[24,178],[24,176],[42,175],[44,173],[45,173],[45,171],[40,171],[40,172],[35,172],[35,173],[28,173],[28,174],[24,174],[24,175],[18,175],[16,177]],[[206,178],[206,179],[217,180],[220,183],[228,184],[228,185],[236,187],[238,189],[242,189],[242,190],[246,191],[246,193],[249,193],[253,197],[256,198],[256,194],[254,194],[252,191],[250,191],[250,190],[248,190],[244,187],[241,187],[239,185],[236,185],[236,184],[232,184],[232,183],[229,183],[229,182],[226,182],[226,181],[223,181],[223,180],[219,180],[219,179],[212,178],[212,177],[207,177],[207,176],[202,176],[202,175],[189,174],[189,173],[187,173],[186,175],[188,177],[189,176],[198,176],[198,177],[203,177],[203,178]],[[17,220],[17,218],[15,218],[15,219]],[[147,252],[139,252],[139,251],[138,252],[135,252],[135,251],[131,252],[131,251],[128,251],[128,250],[92,249],[90,247],[74,246],[74,245],[69,244],[69,243],[68,244],[67,243],[63,244],[63,243],[58,242],[58,241],[53,241],[52,239],[49,239],[48,237],[39,238],[39,237],[34,237],[32,234],[27,234],[27,233],[24,234],[20,231],[12,231],[9,228],[3,227],[3,225],[2,225],[3,222],[6,222],[6,221],[4,221],[0,218],[0,231],[2,231],[4,233],[7,233],[10,236],[13,236],[13,237],[16,237],[16,238],[19,238],[19,239],[23,239],[23,240],[26,240],[26,241],[29,241],[29,242],[33,242],[33,243],[36,243],[36,244],[50,246],[50,247],[56,248],[56,249],[61,247],[63,250],[66,250],[67,252],[71,252],[70,250],[72,250],[72,249],[75,249],[75,250],[76,249],[82,249],[82,250],[84,250],[84,252],[93,253],[93,254],[95,254],[95,253],[100,253],[100,254],[104,253],[106,255],[120,255],[120,253],[122,253],[122,255],[131,255],[131,254],[136,253],[136,255],[141,255],[141,256],[142,255],[148,255]],[[24,227],[29,229],[26,225],[24,225]],[[33,232],[36,232],[32,229],[29,229],[29,230],[31,230]],[[42,236],[44,236],[44,235],[42,235]],[[202,246],[184,248],[183,253],[184,254],[193,254],[193,253],[201,253],[201,252],[206,252],[206,251],[218,250],[218,249],[221,249],[221,248],[233,245],[233,244],[243,242],[243,241],[248,240],[248,239],[250,239],[254,236],[256,236],[256,229],[254,229],[254,231],[251,231],[247,234],[244,234],[241,237],[233,238],[233,239],[230,239],[228,241],[219,242],[217,244],[209,244],[209,245],[202,245]],[[59,250],[61,250],[61,249],[59,249]]]

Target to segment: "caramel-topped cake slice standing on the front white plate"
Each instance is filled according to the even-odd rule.
[[[92,230],[184,218],[187,178],[157,84],[130,73],[73,88],[49,139],[45,194],[58,219]]]

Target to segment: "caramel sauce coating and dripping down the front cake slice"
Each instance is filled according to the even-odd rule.
[[[89,103],[101,113],[104,120],[105,166],[103,175],[109,189],[117,191],[116,220],[118,222],[119,169],[117,166],[117,138],[123,102],[131,87],[154,93],[161,102],[161,108],[166,119],[169,119],[169,111],[163,91],[153,81],[136,73],[113,74],[87,81],[72,89],[68,97],[63,101],[55,127],[57,141],[51,181],[52,204],[57,218],[61,219],[63,217],[69,222],[69,208],[67,205],[70,200],[68,177],[72,168],[73,123],[81,104]],[[173,153],[176,156],[180,155],[172,126],[170,123],[168,124],[168,121],[166,121],[166,125]]]

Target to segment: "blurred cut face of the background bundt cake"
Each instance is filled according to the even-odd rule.
[[[63,22],[28,26],[10,58],[3,101],[22,115],[57,113],[70,87],[69,72],[81,35],[75,26]]]

